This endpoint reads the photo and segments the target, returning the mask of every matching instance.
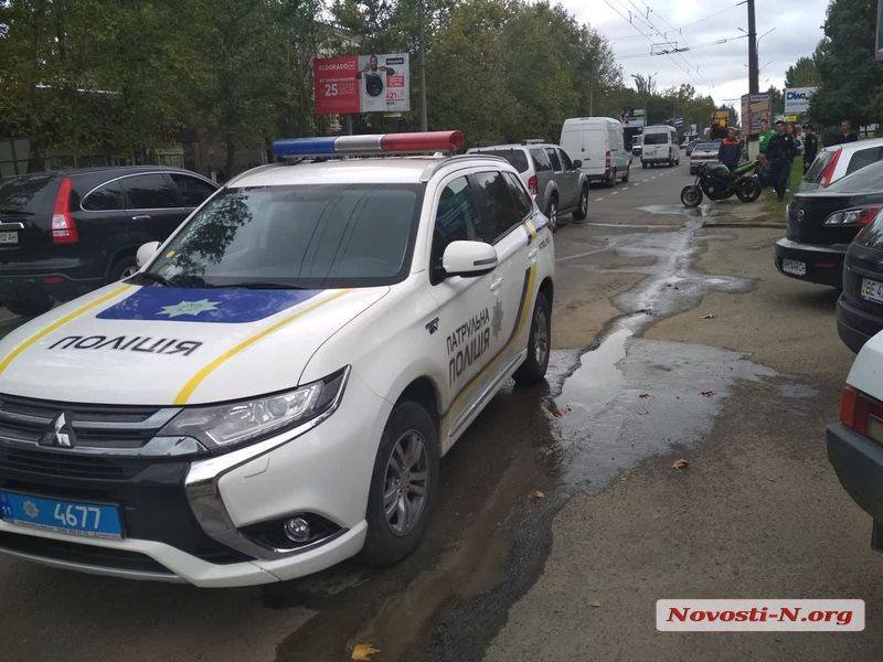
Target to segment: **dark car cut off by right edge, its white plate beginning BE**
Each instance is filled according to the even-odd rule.
[[[850,244],[843,263],[843,291],[837,300],[837,332],[858,353],[883,330],[883,215]]]

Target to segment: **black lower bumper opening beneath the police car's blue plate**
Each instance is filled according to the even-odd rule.
[[[0,531],[0,551],[3,549],[52,560],[174,577],[174,574],[169,568],[149,556],[127,549],[97,547],[95,545],[83,545],[81,543]]]

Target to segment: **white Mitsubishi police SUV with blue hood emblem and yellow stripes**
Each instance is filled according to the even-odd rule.
[[[438,460],[542,380],[554,254],[457,131],[283,140],[141,270],[0,342],[0,552],[236,586],[417,545]],[[158,250],[157,250],[158,249]]]

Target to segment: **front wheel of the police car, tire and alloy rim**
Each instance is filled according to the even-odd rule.
[[[419,456],[411,455],[411,448],[416,448],[411,444],[419,446]],[[397,447],[403,452],[396,452]],[[417,458],[414,465],[400,468],[412,462],[414,457]],[[412,471],[415,467],[417,471]],[[395,481],[401,480],[403,474],[407,484],[404,490],[400,487],[396,492]],[[415,474],[425,478],[415,480]],[[433,417],[418,403],[400,402],[393,407],[383,428],[374,459],[365,510],[368,533],[361,552],[364,562],[384,567],[402,560],[417,548],[429,522],[438,492],[438,431]],[[423,494],[412,492],[408,487],[422,487]],[[390,509],[384,508],[384,494],[391,494],[386,500]],[[417,512],[408,511],[407,505],[402,505],[405,503],[411,509],[417,508]],[[387,510],[391,511],[389,517]]]

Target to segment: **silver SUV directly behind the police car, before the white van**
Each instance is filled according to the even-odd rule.
[[[573,213],[575,221],[588,215],[588,179],[579,169],[582,162],[571,160],[560,146],[525,141],[474,147],[468,153],[502,157],[514,166],[536,205],[549,216],[552,229],[563,214]]]

